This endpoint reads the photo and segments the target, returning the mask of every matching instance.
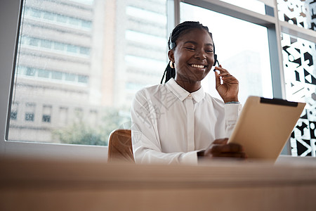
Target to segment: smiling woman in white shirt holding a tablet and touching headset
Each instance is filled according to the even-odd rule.
[[[198,22],[180,23],[168,43],[166,83],[138,91],[132,104],[136,162],[196,164],[198,157],[245,158],[242,146],[225,139],[240,111],[237,79],[221,66],[215,68],[216,89],[225,103],[201,86],[216,63],[209,29]]]

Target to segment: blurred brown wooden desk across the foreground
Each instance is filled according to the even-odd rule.
[[[0,210],[315,210],[316,165],[0,161]]]

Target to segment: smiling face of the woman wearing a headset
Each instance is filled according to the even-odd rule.
[[[214,63],[213,40],[206,30],[192,29],[180,35],[168,54],[175,63],[178,84],[200,84]]]

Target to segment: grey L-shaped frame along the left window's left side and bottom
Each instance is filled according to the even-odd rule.
[[[0,156],[19,156],[27,158],[53,158],[60,160],[84,159],[107,160],[107,146],[81,146],[54,143],[31,143],[7,141],[8,108],[11,106],[10,94],[15,69],[15,52],[18,48],[18,34],[22,10],[22,0],[4,0],[0,7],[1,71],[0,71]],[[15,34],[15,36],[12,36]]]

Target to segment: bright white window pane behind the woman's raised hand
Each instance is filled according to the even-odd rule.
[[[189,4],[180,4],[180,13],[181,21],[195,20],[209,27],[220,65],[239,80],[240,102],[250,95],[272,98],[266,27]],[[206,91],[220,98],[212,72],[202,83]]]

